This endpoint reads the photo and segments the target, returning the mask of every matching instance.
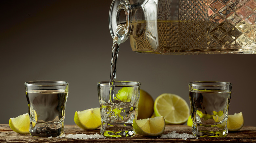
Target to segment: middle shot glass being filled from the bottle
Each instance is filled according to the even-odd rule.
[[[131,137],[135,135],[133,119],[137,118],[139,103],[139,82],[98,82],[101,129],[104,136]]]

